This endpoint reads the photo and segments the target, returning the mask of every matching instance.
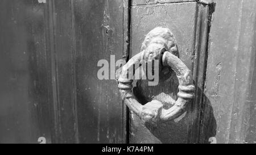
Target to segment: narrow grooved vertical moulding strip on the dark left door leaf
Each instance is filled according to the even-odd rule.
[[[75,32],[72,1],[47,1],[51,61],[53,143],[79,143],[76,111]]]

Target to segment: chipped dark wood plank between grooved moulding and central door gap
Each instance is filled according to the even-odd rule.
[[[126,1],[74,1],[80,143],[126,143],[126,111],[117,82],[97,78],[97,62],[126,57]],[[123,39],[125,38],[125,39]],[[123,51],[123,52],[122,52]]]

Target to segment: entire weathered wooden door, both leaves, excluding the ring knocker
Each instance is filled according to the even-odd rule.
[[[254,0],[1,0],[0,143],[255,143],[255,10]],[[187,112],[149,129],[97,72],[139,53],[155,27],[174,33],[196,90]],[[168,104],[177,86],[172,73],[134,94]]]

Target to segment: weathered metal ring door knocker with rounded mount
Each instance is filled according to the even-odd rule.
[[[187,104],[193,99],[195,86],[193,85],[191,70],[177,57],[178,52],[175,42],[175,37],[168,28],[154,28],[154,30],[146,35],[142,43],[141,52],[123,65],[121,74],[119,74],[118,88],[123,102],[126,103],[130,110],[137,114],[144,123],[157,125],[159,121],[174,120],[186,111]],[[168,68],[174,70],[179,81],[178,99],[174,106],[169,109],[164,109],[162,102],[158,100],[152,100],[142,105],[134,97],[132,91],[133,79],[128,78],[129,68],[134,68],[134,65],[141,60],[146,62],[159,60],[159,68],[168,66]]]

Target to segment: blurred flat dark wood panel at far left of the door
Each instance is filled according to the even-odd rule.
[[[51,143],[44,8],[0,1],[0,143]]]

